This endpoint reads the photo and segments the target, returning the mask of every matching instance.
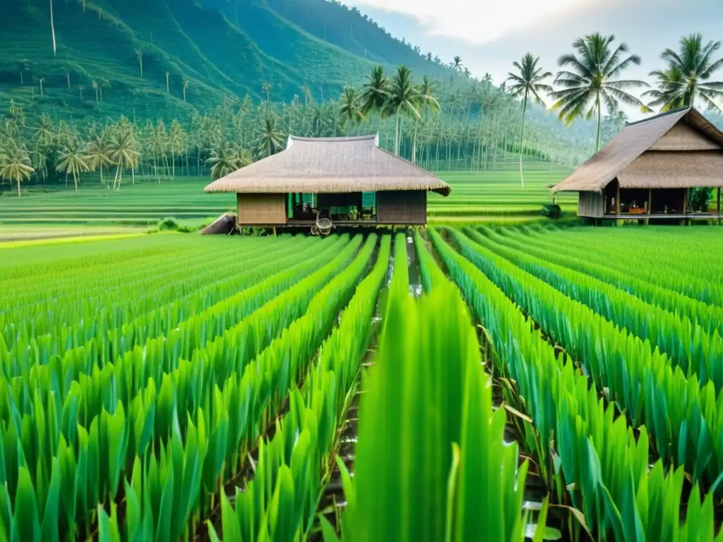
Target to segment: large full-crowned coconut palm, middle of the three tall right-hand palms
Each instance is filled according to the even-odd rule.
[[[637,55],[626,55],[628,46],[620,43],[615,49],[615,35],[600,33],[586,35],[573,43],[576,53],[560,56],[557,61],[562,70],[557,72],[555,84],[562,90],[550,94],[556,100],[552,108],[560,111],[560,119],[570,124],[578,117],[597,118],[595,151],[600,150],[600,123],[603,106],[612,111],[617,103],[636,106],[643,113],[651,109],[627,90],[649,87],[638,79],[613,79],[631,64],[640,64]],[[623,59],[623,56],[625,58]]]

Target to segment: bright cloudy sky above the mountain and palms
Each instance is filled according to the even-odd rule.
[[[443,61],[462,58],[476,77],[497,84],[527,52],[555,72],[557,58],[587,33],[613,34],[641,56],[628,79],[650,79],[663,67],[660,53],[683,35],[723,40],[723,0],[346,0],[392,35]],[[723,54],[723,51],[722,51]],[[723,73],[721,75],[723,79]],[[628,111],[636,117],[636,111]],[[640,116],[637,114],[637,116]]]

